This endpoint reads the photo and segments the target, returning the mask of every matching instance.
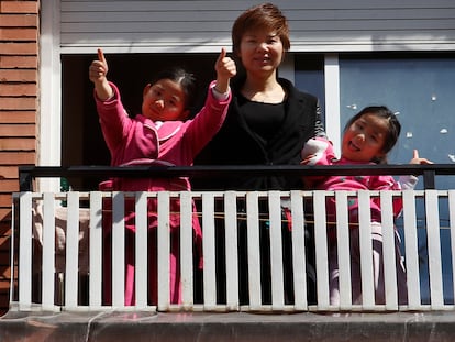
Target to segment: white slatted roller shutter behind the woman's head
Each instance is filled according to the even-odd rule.
[[[288,18],[292,52],[453,49],[450,0],[277,0]],[[255,1],[65,1],[65,53],[219,52],[231,46],[235,19]],[[109,51],[110,49],[110,51]]]

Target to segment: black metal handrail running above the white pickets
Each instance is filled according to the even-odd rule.
[[[40,177],[238,177],[242,176],[331,176],[415,175],[423,176],[424,189],[435,188],[435,176],[455,175],[455,164],[395,165],[197,165],[197,166],[34,166],[19,167],[20,190],[31,191]]]

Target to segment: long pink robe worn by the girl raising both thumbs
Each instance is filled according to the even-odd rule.
[[[221,128],[231,101],[231,93],[225,100],[218,100],[213,96],[212,87],[209,87],[204,107],[192,120],[153,122],[152,120],[136,115],[130,118],[122,104],[119,89],[110,84],[114,96],[111,99],[101,101],[95,95],[97,110],[100,119],[102,134],[111,153],[112,166],[132,165],[179,165],[190,166],[196,155],[213,137]],[[187,178],[113,178],[100,184],[100,190],[119,191],[181,191],[190,190],[190,183]],[[103,228],[109,234],[112,228],[111,200],[103,203]],[[148,229],[157,227],[157,200],[152,198],[147,201]],[[202,266],[201,236],[202,231],[193,205],[192,229],[193,239],[199,250],[199,267]],[[125,201],[125,228],[129,234],[127,241],[133,240],[135,232],[134,224],[134,200]],[[178,199],[170,199],[169,229],[170,232],[178,232],[180,228],[180,202]],[[152,236],[152,238],[151,238]],[[148,239],[153,238],[151,234]],[[170,302],[180,302],[181,288],[179,275],[179,234],[173,234],[170,247],[169,287]],[[156,240],[152,245],[156,245]],[[133,244],[134,245],[134,244]],[[106,260],[109,261],[109,243],[104,249]],[[149,298],[156,304],[157,298],[157,260],[154,252],[148,253],[149,257]],[[125,255],[125,305],[134,305],[134,251],[129,247]],[[104,301],[111,301],[111,275],[110,267],[106,265],[103,274]]]

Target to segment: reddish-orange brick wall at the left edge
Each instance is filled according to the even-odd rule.
[[[18,165],[35,164],[40,0],[0,0],[0,315],[10,286],[11,194]]]

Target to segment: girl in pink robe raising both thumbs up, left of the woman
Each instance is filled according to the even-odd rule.
[[[164,71],[156,81],[145,86],[143,91],[142,113],[130,118],[122,104],[119,89],[107,79],[108,63],[101,49],[98,60],[89,67],[89,79],[95,85],[95,100],[100,119],[104,141],[111,154],[111,166],[129,165],[192,165],[193,158],[212,139],[222,125],[231,101],[230,79],[236,74],[234,62],[222,48],[214,66],[217,80],[208,91],[204,107],[188,120],[188,103],[193,96],[195,80],[191,74],[182,69]],[[180,191],[190,190],[187,178],[113,178],[100,185],[101,190],[120,191]],[[109,208],[108,208],[109,209]],[[179,202],[170,203],[169,229],[170,246],[170,302],[180,302],[179,279],[179,241],[180,225]],[[149,298],[152,304],[157,299],[156,279],[156,200],[148,200],[149,229]],[[110,238],[111,218],[103,219],[103,227]],[[125,305],[134,305],[134,202],[125,203]],[[201,228],[198,218],[193,217],[196,243],[200,243]],[[104,302],[111,301],[110,280],[110,243],[104,251],[107,268],[103,280]]]

